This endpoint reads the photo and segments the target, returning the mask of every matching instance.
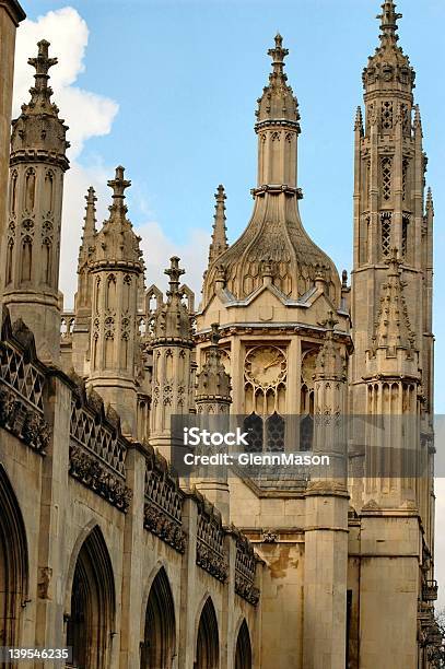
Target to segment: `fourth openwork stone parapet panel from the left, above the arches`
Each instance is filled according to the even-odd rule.
[[[225,531],[221,516],[200,493],[195,492],[195,496],[198,503],[196,563],[224,583],[229,575],[229,562],[224,549]]]

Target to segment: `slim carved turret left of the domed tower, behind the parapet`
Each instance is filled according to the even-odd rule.
[[[191,313],[183,302],[185,287],[180,287],[179,279],[184,270],[179,268],[179,258],[171,258],[171,267],[165,273],[168,277],[167,300],[163,302],[160,295],[151,339],[153,398],[150,443],[169,458],[171,416],[189,413],[195,365],[191,360]]]

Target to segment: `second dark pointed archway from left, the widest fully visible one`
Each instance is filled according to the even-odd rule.
[[[86,537],[75,563],[67,646],[79,669],[105,669],[109,665],[115,620],[115,583],[102,531]]]

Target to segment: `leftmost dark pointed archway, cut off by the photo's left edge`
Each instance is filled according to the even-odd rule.
[[[27,599],[26,532],[7,472],[0,466],[0,645],[20,646],[20,614]]]

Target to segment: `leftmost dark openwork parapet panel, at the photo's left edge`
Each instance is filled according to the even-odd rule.
[[[0,426],[45,455],[50,431],[44,418],[45,373],[36,359],[34,337],[9,316],[0,341]]]

